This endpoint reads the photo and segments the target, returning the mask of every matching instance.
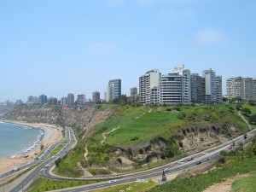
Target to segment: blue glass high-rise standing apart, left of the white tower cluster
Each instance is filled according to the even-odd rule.
[[[107,101],[113,101],[121,96],[122,84],[121,79],[113,79],[108,81]]]

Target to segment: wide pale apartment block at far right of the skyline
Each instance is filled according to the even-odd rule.
[[[256,80],[253,78],[230,78],[226,81],[227,97],[241,97],[243,101],[256,99]]]

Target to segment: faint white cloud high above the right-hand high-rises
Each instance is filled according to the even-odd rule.
[[[224,32],[216,29],[203,29],[195,34],[194,37],[195,44],[201,45],[216,45],[216,44],[225,44],[228,41],[228,38]]]

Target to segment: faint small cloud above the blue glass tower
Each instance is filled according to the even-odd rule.
[[[97,55],[109,55],[115,51],[115,46],[108,43],[93,43],[89,45],[91,52]]]

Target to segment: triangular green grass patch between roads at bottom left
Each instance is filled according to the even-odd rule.
[[[82,186],[86,184],[96,183],[93,181],[57,181],[57,180],[49,180],[46,178],[38,178],[31,183],[28,187],[28,191],[30,192],[42,192],[49,191],[55,189],[66,189],[76,186]]]

